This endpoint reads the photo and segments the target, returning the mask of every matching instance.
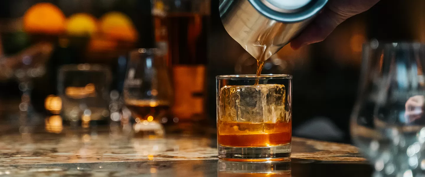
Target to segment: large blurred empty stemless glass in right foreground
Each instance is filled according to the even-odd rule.
[[[363,47],[351,135],[375,177],[425,173],[425,45],[372,41]]]

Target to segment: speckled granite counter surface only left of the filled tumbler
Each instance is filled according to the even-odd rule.
[[[127,138],[107,133],[3,135],[0,165],[216,159],[211,143],[203,137]]]

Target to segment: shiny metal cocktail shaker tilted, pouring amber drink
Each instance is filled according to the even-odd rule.
[[[220,0],[227,33],[258,61],[296,37],[328,0]]]

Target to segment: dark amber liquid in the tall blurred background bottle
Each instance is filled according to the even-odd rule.
[[[156,39],[167,42],[167,65],[173,75],[171,112],[180,121],[201,119],[205,113],[208,18],[192,12],[155,17]]]

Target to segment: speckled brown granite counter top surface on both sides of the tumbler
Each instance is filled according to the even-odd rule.
[[[0,165],[151,160],[216,160],[215,135],[129,138],[108,132],[0,136]],[[365,161],[348,144],[293,138],[293,159]]]

